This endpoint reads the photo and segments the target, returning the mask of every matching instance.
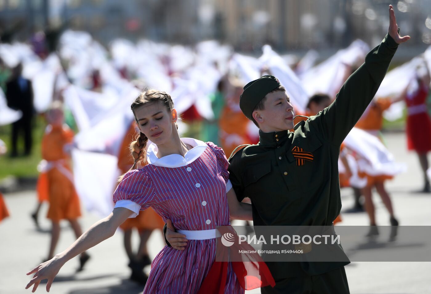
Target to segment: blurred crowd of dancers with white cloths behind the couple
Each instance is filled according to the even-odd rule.
[[[83,31],[38,32],[26,43],[0,43],[0,125],[12,124],[10,142],[1,142],[0,153],[5,154],[7,147],[11,157],[29,155],[34,116],[42,115],[47,121],[38,204],[32,214],[38,226],[39,209],[45,201],[50,202],[48,218],[53,221],[53,236],[47,258],[53,256],[60,220],[69,220],[75,235],[81,234],[76,222],[81,216],[79,201],[86,210],[103,216],[112,211],[117,177],[133,164],[128,145],[138,133],[130,104],[142,89],[169,93],[180,114],[180,134],[214,142],[229,156],[238,145],[259,142],[258,128],[239,108],[247,81],[264,74],[278,77],[295,115],[300,115],[295,119],[298,123],[336,100],[338,90],[368,51],[366,43],[356,40],[317,64],[319,53],[315,51],[298,58],[280,55],[265,45],[262,56],[245,56],[214,40],[181,46],[116,39],[105,48]],[[384,117],[395,120],[406,112],[408,149],[418,154],[423,192],[431,191],[427,175],[430,62],[428,49],[388,72],[341,147],[340,185],[354,190],[355,204],[350,211],[368,213],[370,235],[378,234],[373,190],[385,204],[390,224],[397,226],[399,220],[384,183],[406,172],[405,164],[395,162],[384,144]],[[24,138],[21,149],[19,136]],[[59,213],[58,207],[64,206],[69,207],[67,215]],[[8,215],[1,196],[0,208],[1,220]],[[122,227],[132,279],[136,281],[143,280],[142,268],[150,263],[146,241],[152,230],[163,226],[154,211],[146,210],[139,216],[140,220]],[[135,253],[130,245],[133,228],[141,236]],[[81,255],[80,269],[88,258]]]

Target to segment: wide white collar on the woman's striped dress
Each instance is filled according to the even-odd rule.
[[[205,151],[206,147],[208,147],[205,142],[193,138],[181,138],[181,141],[193,147],[186,152],[184,157],[179,154],[170,154],[163,156],[162,158],[157,158],[157,145],[151,143],[147,150],[148,164],[153,164],[159,167],[183,167],[199,158],[199,156]]]

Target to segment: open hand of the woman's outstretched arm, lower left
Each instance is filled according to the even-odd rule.
[[[42,280],[48,279],[47,292],[49,292],[54,278],[58,274],[63,264],[64,263],[62,263],[62,261],[57,255],[53,257],[53,259],[39,264],[27,273],[27,275],[31,275],[32,273],[34,273],[34,276],[33,279],[31,279],[31,281],[27,284],[27,286],[25,286],[25,288],[28,289],[31,287],[31,285],[34,285],[33,290],[31,290],[31,292],[34,292],[36,291],[37,286],[39,286]]]

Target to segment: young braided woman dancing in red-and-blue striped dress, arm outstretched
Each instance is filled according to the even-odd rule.
[[[230,189],[223,150],[211,142],[180,139],[175,124],[177,112],[168,94],[147,90],[131,109],[141,133],[131,144],[135,163],[114,192],[114,210],[68,249],[28,272],[34,277],[26,288],[33,285],[35,291],[41,280],[48,279],[49,291],[67,260],[114,235],[128,217],[153,207],[163,220],[171,219],[176,228],[183,230],[189,241],[184,250],[165,246],[159,252],[144,293],[197,293],[212,265],[217,264],[216,228],[229,225],[229,217],[252,219],[251,205],[239,203]],[[153,143],[146,151],[148,139]],[[136,169],[145,161],[147,165]],[[268,268],[263,270],[268,272]],[[222,293],[244,293],[238,280],[245,277],[235,275],[232,263],[228,263],[224,278],[225,282],[215,281],[212,288],[219,285]],[[272,276],[267,280],[271,279]]]

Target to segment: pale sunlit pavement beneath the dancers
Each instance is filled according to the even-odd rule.
[[[422,185],[419,163],[412,153],[406,152],[403,134],[387,134],[387,144],[397,161],[406,162],[409,172],[397,176],[387,184],[394,201],[394,209],[401,225],[431,225],[431,194],[412,193]],[[25,272],[41,262],[49,245],[49,221],[41,218],[42,231],[36,231],[29,217],[36,204],[33,191],[4,195],[11,217],[0,223],[0,294],[30,293],[24,287],[29,281]],[[352,205],[350,189],[342,190],[343,210]],[[387,211],[375,196],[378,224],[388,225]],[[46,213],[44,207],[42,216]],[[341,225],[368,224],[365,213],[343,214]],[[84,228],[99,216],[86,213],[81,219]],[[57,252],[74,241],[73,232],[64,228]],[[135,236],[136,237],[136,236]],[[150,238],[150,255],[155,256],[164,245],[159,232]],[[122,233],[92,248],[91,261],[78,274],[78,259],[69,261],[59,272],[51,293],[59,294],[117,294],[142,293],[143,287],[128,280],[127,256],[122,248]],[[149,270],[149,268],[147,269]],[[431,293],[431,262],[354,262],[346,266],[352,294],[412,294]],[[42,286],[42,287],[41,287]],[[37,292],[44,292],[43,285]],[[259,290],[247,291],[260,293]]]

